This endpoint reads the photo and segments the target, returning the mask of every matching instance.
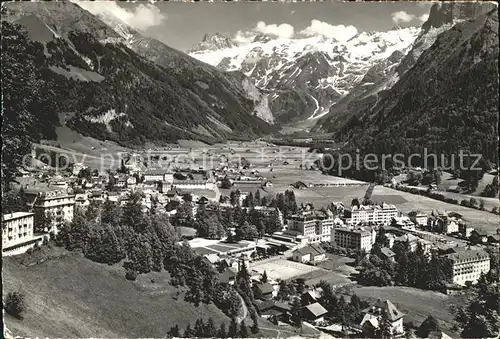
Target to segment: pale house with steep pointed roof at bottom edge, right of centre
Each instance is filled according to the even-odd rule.
[[[372,306],[364,309],[363,312],[365,315],[360,325],[366,336],[373,337],[374,331],[379,328],[379,319],[384,313],[392,324],[392,334],[404,333],[403,318],[405,314],[399,311],[391,301],[378,299]]]

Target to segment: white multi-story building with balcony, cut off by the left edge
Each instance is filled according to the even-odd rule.
[[[43,242],[33,233],[34,213],[15,212],[2,217],[2,256],[16,255]]]

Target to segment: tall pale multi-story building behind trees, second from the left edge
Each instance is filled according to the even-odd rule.
[[[26,190],[26,196],[35,214],[37,212],[43,213],[51,220],[50,225],[44,230],[45,232],[57,235],[64,223],[73,221],[74,194],[69,194],[66,191]],[[35,222],[37,221],[35,220]]]

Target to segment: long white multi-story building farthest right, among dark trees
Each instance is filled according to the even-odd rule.
[[[481,273],[490,270],[490,256],[483,250],[465,250],[446,255],[453,265],[453,283],[465,285],[477,283]]]

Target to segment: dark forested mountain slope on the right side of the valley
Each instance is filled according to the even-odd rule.
[[[373,107],[338,131],[364,152],[464,152],[498,161],[498,13],[441,33]]]

